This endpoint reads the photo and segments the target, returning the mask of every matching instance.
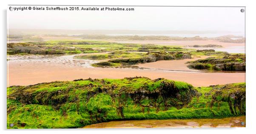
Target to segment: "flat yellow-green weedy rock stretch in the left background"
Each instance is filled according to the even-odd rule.
[[[128,52],[128,51],[182,51],[185,49],[179,46],[162,45],[141,45],[129,43],[112,43],[102,41],[47,41],[47,42],[26,42],[7,44],[8,54],[77,54],[77,53],[100,53],[100,52]],[[123,55],[125,56],[125,55]]]

